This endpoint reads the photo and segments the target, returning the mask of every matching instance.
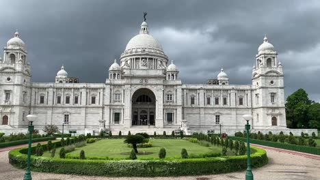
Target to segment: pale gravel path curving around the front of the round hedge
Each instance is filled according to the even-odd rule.
[[[285,151],[279,151],[271,147],[263,147],[267,151],[269,157],[269,164],[262,168],[253,169],[254,179],[269,180],[319,180],[320,179],[320,160],[312,157],[305,157],[301,154],[291,154]],[[283,150],[283,149],[281,149]],[[8,163],[8,151],[0,153],[0,179],[5,180],[21,180],[25,170],[14,168]],[[155,180],[233,180],[245,179],[245,171],[231,172],[222,175],[204,175],[192,177],[86,177],[74,175],[58,175],[52,173],[31,172],[32,179],[41,180],[62,180],[62,179],[77,179],[77,180],[135,180],[135,179],[155,179]]]

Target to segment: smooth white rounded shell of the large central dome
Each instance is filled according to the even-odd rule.
[[[133,48],[157,48],[163,50],[159,41],[148,33],[140,33],[132,37],[128,44],[126,44],[126,50]]]

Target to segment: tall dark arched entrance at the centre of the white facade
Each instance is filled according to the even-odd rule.
[[[146,88],[132,95],[132,125],[155,125],[155,94]]]

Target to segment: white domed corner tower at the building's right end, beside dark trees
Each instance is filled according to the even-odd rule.
[[[284,74],[278,53],[265,35],[252,68],[253,127],[286,127]]]

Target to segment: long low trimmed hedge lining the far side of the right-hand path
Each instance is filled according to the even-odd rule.
[[[229,137],[232,140],[241,140],[243,142],[247,142],[246,138],[240,138],[240,137]],[[287,149],[291,151],[299,151],[302,153],[311,153],[315,155],[320,155],[320,148],[317,147],[307,147],[302,145],[291,145],[283,142],[271,142],[266,140],[257,140],[250,138],[250,143],[256,144],[256,145],[264,145],[268,147],[276,147],[280,149]]]

